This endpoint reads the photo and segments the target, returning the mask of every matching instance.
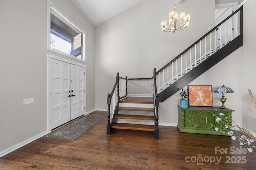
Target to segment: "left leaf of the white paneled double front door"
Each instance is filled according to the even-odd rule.
[[[51,61],[51,129],[70,121],[70,64]]]

